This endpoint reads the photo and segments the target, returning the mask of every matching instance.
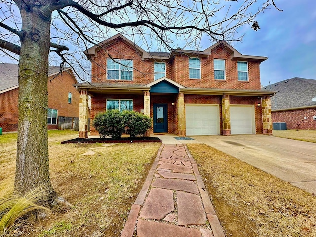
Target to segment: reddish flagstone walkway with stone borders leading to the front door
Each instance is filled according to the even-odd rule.
[[[225,237],[185,144],[163,144],[121,237]]]

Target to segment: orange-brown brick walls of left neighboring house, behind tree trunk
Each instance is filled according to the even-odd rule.
[[[73,76],[65,71],[53,77],[48,79],[48,108],[58,110],[58,116],[79,117],[79,92],[72,86],[76,83]],[[68,92],[72,93],[71,104],[68,103]],[[0,94],[0,127],[3,132],[17,131],[17,105],[18,88]],[[48,125],[48,129],[58,129],[58,125]]]

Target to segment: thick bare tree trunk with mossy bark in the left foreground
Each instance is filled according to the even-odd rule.
[[[48,198],[56,197],[50,184],[47,138],[48,53],[51,15],[36,7],[21,7],[19,61],[19,124],[15,192],[24,195],[45,185]]]

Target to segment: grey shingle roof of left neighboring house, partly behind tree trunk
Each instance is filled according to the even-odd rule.
[[[71,70],[70,67],[64,67],[62,72]],[[13,90],[19,87],[18,83],[19,65],[14,63],[0,63],[0,93]],[[59,66],[49,66],[48,76],[56,75],[60,72]],[[72,72],[71,72],[72,73]],[[72,73],[73,74],[73,73]],[[75,83],[78,83],[76,78]]]

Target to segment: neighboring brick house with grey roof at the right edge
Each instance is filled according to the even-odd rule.
[[[273,122],[286,122],[287,129],[316,130],[316,80],[295,77],[262,90],[278,91],[271,97]]]

